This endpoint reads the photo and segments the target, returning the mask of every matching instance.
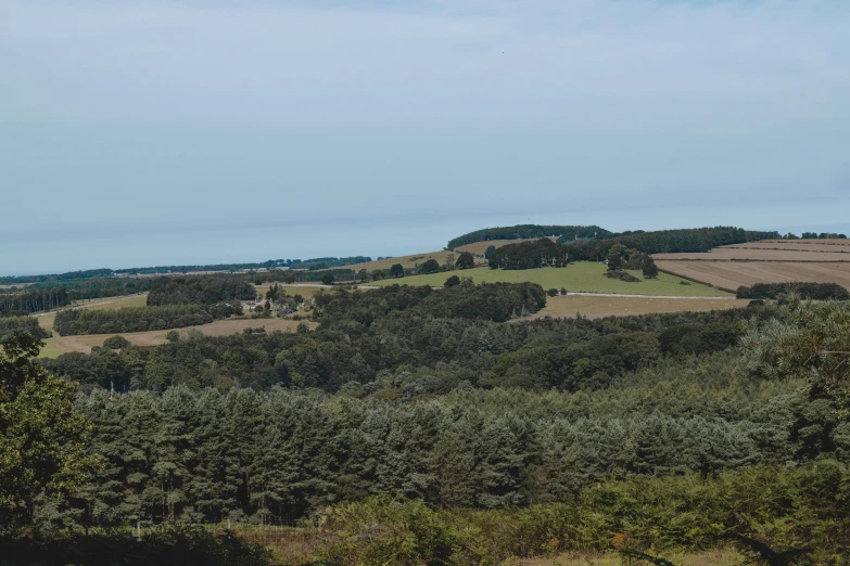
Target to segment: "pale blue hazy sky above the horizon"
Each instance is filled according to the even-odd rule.
[[[0,0],[0,274],[850,233],[850,2]]]

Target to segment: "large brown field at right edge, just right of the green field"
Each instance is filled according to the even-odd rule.
[[[663,271],[730,291],[754,283],[791,281],[837,283],[850,288],[850,262],[657,260],[656,265]]]

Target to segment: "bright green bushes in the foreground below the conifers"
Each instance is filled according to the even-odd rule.
[[[754,543],[759,558],[786,559],[756,563],[843,564],[850,520],[835,501],[847,474],[847,466],[825,461],[797,469],[753,466],[712,479],[608,480],[562,502],[519,510],[448,511],[373,498],[323,515],[322,526],[335,535],[323,555],[339,564],[500,564],[605,551],[613,542],[632,557],[672,564],[658,554],[738,540]]]

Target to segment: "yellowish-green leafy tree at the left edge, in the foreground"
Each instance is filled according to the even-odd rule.
[[[0,525],[31,519],[37,497],[69,493],[99,462],[86,453],[89,423],[74,411],[77,385],[34,362],[41,346],[15,334],[0,352]]]

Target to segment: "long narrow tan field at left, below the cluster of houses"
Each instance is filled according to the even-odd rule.
[[[189,332],[192,330],[203,332],[207,336],[227,336],[240,333],[245,329],[258,329],[261,326],[266,329],[267,332],[294,332],[299,324],[301,324],[301,322],[284,319],[230,319],[217,320],[210,324],[176,330],[180,333],[180,336],[188,336]],[[304,324],[307,324],[310,329],[318,326],[317,323],[309,321],[304,321]],[[165,335],[168,332],[170,331],[129,332],[122,334],[122,336],[136,346],[156,346],[158,344],[165,344]],[[71,351],[89,353],[93,346],[103,346],[103,340],[111,336],[112,334],[81,334],[78,336],[54,335],[52,338],[45,340],[47,346],[41,350],[41,357],[55,358],[56,356]]]

